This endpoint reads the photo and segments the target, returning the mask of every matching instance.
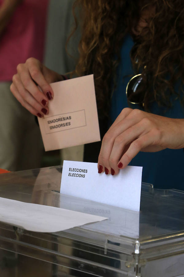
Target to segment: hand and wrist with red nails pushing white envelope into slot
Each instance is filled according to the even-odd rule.
[[[125,168],[140,152],[184,147],[184,119],[125,108],[102,140],[98,172],[112,175]]]

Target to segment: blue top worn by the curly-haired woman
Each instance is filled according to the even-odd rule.
[[[126,86],[130,76],[134,75],[130,50],[134,42],[128,35],[121,48],[121,63],[117,68],[117,87],[113,93],[111,102],[111,119],[114,121],[121,110],[128,107]],[[179,86],[179,85],[178,85]],[[136,105],[136,108],[138,106]],[[170,118],[184,118],[184,109],[179,100],[173,102],[171,109],[164,109],[155,102],[151,107],[154,114]],[[142,166],[142,182],[151,183],[155,188],[184,190],[184,150],[165,149],[155,153],[139,152],[129,165]]]

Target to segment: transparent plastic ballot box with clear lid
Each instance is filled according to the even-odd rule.
[[[1,174],[0,197],[109,219],[56,233],[0,222],[0,276],[184,276],[183,191],[142,183],[139,213],[62,195],[61,174],[62,167]]]

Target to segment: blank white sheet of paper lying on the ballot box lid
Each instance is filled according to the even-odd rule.
[[[0,197],[0,221],[35,232],[57,232],[107,219],[62,208]]]

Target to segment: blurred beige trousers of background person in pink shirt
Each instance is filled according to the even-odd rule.
[[[38,168],[43,153],[39,126],[10,92],[10,84],[0,82],[0,168]]]

